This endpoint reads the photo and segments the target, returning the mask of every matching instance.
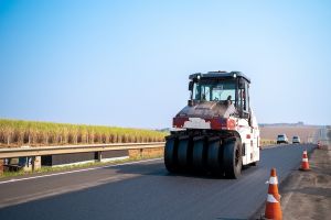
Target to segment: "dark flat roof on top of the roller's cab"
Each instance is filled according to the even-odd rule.
[[[250,79],[243,74],[242,72],[209,72],[206,74],[192,74],[190,75],[189,79],[197,79],[197,78],[218,78],[218,79],[228,79],[228,78],[236,78],[242,77],[246,79],[250,84]]]

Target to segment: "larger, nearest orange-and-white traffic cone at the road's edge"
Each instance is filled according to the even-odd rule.
[[[282,213],[280,208],[280,195],[278,194],[278,179],[276,176],[276,168],[271,168],[270,172],[265,218],[275,219],[275,220],[282,219]]]

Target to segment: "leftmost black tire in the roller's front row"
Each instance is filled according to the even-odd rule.
[[[175,138],[167,139],[166,146],[164,146],[164,165],[168,172],[170,173],[178,172],[177,147],[178,147],[178,139]]]

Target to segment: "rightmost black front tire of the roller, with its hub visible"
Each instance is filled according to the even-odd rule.
[[[242,143],[238,139],[226,140],[223,144],[223,167],[227,178],[238,178],[243,167]]]

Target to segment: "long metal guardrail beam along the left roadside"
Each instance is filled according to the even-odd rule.
[[[55,154],[74,154],[85,152],[105,152],[118,150],[142,150],[164,147],[166,142],[151,143],[116,143],[116,144],[86,144],[86,145],[60,145],[60,146],[33,146],[33,147],[7,147],[0,148],[1,158],[17,158],[24,156],[45,156]]]

